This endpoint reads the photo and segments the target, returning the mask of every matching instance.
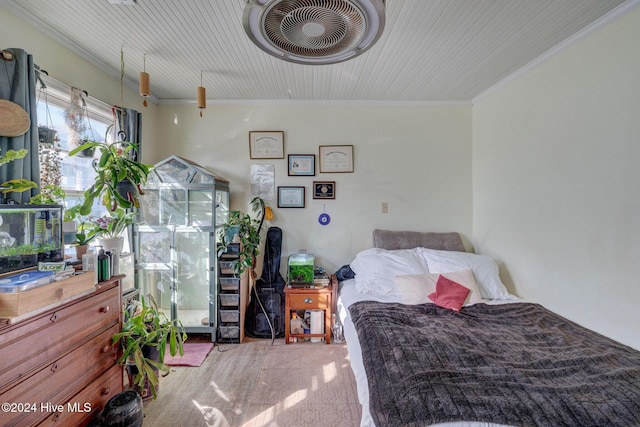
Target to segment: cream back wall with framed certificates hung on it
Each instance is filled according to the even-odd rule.
[[[335,271],[372,245],[374,228],[459,231],[471,239],[471,107],[288,104],[161,105],[154,162],[177,154],[231,182],[232,208],[247,211],[252,163],[273,164],[276,186],[304,186],[304,209],[274,208],[283,259],[299,249]],[[249,158],[249,131],[283,130],[285,159]],[[319,145],[354,146],[354,173],[290,177],[286,154],[318,155]],[[316,159],[317,163],[317,159]],[[318,165],[316,164],[316,167]],[[314,180],[336,182],[335,200],[314,200]],[[389,213],[381,213],[381,203]],[[331,216],[327,226],[318,216]],[[283,262],[283,273],[286,271]],[[259,270],[260,271],[260,270]]]

